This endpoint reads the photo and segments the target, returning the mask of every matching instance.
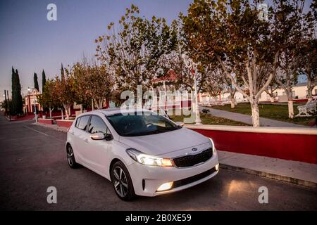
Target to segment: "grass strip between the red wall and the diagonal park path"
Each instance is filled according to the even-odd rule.
[[[187,116],[186,116],[187,117]],[[220,117],[213,117],[212,115],[204,115],[201,113],[200,115],[202,124],[211,124],[211,125],[228,125],[228,126],[250,126],[249,124],[244,124],[243,122],[236,122],[233,120],[228,120]],[[174,122],[183,122],[184,115],[170,115],[170,120]]]

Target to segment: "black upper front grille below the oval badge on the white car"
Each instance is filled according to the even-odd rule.
[[[173,158],[176,167],[192,167],[201,162],[206,162],[213,156],[212,148],[203,150],[195,155],[185,155],[179,158]]]

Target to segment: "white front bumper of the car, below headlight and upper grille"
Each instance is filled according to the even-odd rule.
[[[193,167],[154,167],[142,165],[137,162],[128,167],[135,193],[142,196],[156,196],[175,191],[181,191],[200,184],[218,174],[218,154],[211,159]],[[157,191],[161,184],[173,181],[171,189]]]

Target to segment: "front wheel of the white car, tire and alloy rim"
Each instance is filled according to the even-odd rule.
[[[123,162],[118,161],[111,167],[111,182],[121,200],[130,201],[136,197],[131,176]]]

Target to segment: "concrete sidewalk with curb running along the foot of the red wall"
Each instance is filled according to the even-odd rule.
[[[316,188],[317,165],[218,150],[220,167]]]

